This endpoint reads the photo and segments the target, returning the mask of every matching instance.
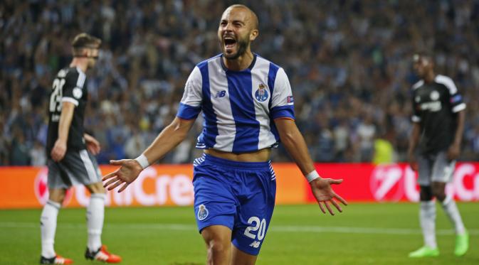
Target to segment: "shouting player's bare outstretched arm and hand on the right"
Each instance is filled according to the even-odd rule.
[[[307,151],[305,139],[302,137],[293,119],[275,119],[275,125],[280,134],[281,142],[288,153],[290,153],[290,156],[293,157],[302,174],[308,178],[312,194],[315,196],[318,205],[320,205],[321,211],[326,213],[325,209],[327,209],[331,215],[335,215],[330,206],[332,204],[339,212],[342,212],[342,207],[336,200],[339,200],[344,205],[347,205],[347,202],[331,188],[332,184],[342,183],[342,180],[320,178],[317,175],[311,156]]]

